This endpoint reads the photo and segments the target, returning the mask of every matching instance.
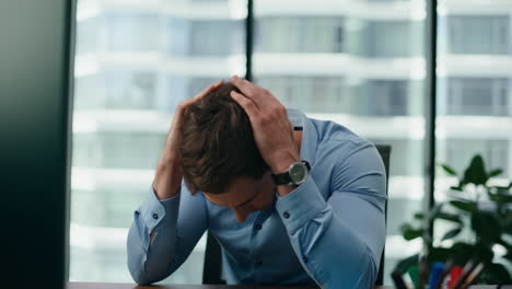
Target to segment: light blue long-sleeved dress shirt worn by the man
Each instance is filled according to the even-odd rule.
[[[193,196],[185,185],[166,200],[151,188],[128,234],[128,267],[137,284],[175,271],[208,229],[222,246],[228,284],[373,286],[385,241],[382,159],[341,125],[294,109],[289,117],[303,128],[300,153],[312,166],[305,183],[242,223],[229,207],[200,192]]]

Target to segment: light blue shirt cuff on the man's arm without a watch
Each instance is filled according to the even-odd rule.
[[[159,200],[153,185],[151,185],[148,198],[139,208],[141,220],[149,231],[152,231],[164,219],[167,212],[178,210],[181,194],[182,189],[171,198]]]

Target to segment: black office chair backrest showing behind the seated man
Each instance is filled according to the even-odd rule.
[[[379,153],[386,169],[386,196],[387,184],[389,178],[389,155],[391,146],[376,144]],[[385,215],[387,223],[387,201],[385,204]],[[381,264],[379,266],[379,274],[375,285],[383,285],[384,281],[384,248],[382,250]],[[217,242],[216,238],[208,231],[207,247],[205,252],[205,267],[202,269],[202,284],[222,285],[225,280],[222,279],[222,250]]]

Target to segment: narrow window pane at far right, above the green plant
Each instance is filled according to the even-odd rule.
[[[510,139],[512,2],[439,2],[438,161],[461,172],[480,153],[511,178]],[[487,11],[484,13],[482,11]],[[476,56],[475,56],[476,55]],[[482,60],[484,59],[484,60]],[[457,69],[464,67],[464,69]],[[442,182],[445,174],[438,173]],[[444,194],[446,187],[437,187]]]

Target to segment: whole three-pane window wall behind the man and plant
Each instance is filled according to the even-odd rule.
[[[392,146],[388,285],[389,270],[408,254],[399,226],[424,199],[429,44],[424,5],[417,4],[424,1],[303,1],[290,9],[254,1],[255,82],[287,107]],[[244,74],[245,20],[232,15],[236,1],[163,2],[105,0],[78,19],[71,280],[131,281],[128,226],[148,194],[176,105],[221,78]],[[437,161],[461,170],[481,153],[510,178],[512,5],[505,2],[439,0],[435,122]],[[396,9],[383,9],[388,4]],[[202,253],[200,241],[164,282],[200,282]]]

